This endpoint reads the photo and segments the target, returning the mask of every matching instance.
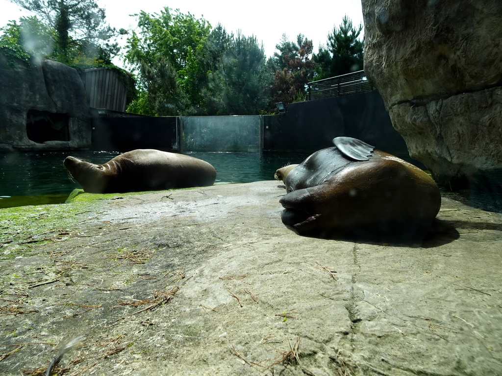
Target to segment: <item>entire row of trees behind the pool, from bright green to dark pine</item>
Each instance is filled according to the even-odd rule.
[[[275,111],[276,102],[305,100],[306,84],[314,79],[362,69],[362,27],[354,29],[347,17],[318,54],[305,36],[291,42],[284,35],[267,62],[255,37],[228,34],[222,25],[211,29],[191,14],[164,8],[137,17],[140,31],[128,39],[125,55],[141,87],[131,112],[263,114]]]

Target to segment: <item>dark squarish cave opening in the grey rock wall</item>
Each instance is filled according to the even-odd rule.
[[[66,114],[29,110],[26,116],[26,134],[37,143],[69,141],[68,120]]]

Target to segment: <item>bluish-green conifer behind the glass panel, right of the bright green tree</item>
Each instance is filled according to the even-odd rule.
[[[209,72],[207,108],[218,115],[257,115],[265,110],[265,90],[270,82],[265,51],[256,37],[240,33],[231,38],[228,49]]]

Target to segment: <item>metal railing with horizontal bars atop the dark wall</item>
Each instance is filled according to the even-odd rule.
[[[364,71],[312,81],[307,86],[309,101],[376,90],[366,79]]]

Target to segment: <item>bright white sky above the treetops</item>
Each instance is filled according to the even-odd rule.
[[[354,27],[362,24],[361,0],[326,1],[266,1],[254,0],[246,2],[230,0],[97,0],[98,6],[106,10],[106,21],[116,29],[134,29],[136,18],[130,15],[145,11],[153,14],[163,7],[179,9],[182,13],[190,12],[197,19],[204,18],[214,28],[218,23],[228,33],[249,37],[255,35],[259,43],[263,43],[265,55],[270,57],[276,51],[283,34],[290,41],[296,41],[298,34],[305,35],[314,44],[314,51],[319,45],[325,45],[328,33],[333,26],[341,24],[347,15]],[[19,20],[29,14],[10,3],[0,0],[0,27],[10,20]],[[362,37],[362,33],[361,33]],[[114,63],[121,65],[119,61]]]

